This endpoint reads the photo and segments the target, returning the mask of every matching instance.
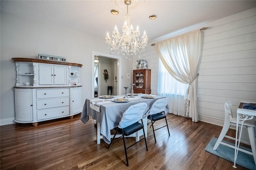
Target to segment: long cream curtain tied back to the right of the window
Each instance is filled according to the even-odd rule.
[[[157,51],[170,75],[181,83],[189,84],[188,95],[185,96],[186,116],[191,117],[193,122],[198,122],[196,77],[202,52],[200,30],[159,42]]]

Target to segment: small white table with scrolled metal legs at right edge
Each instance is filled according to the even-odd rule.
[[[238,155],[241,134],[242,134],[242,128],[238,129],[238,123],[243,124],[244,121],[252,120],[253,117],[256,116],[256,102],[241,101],[236,113],[237,113],[237,117],[236,117],[237,120],[236,120],[235,155],[234,155],[234,165],[233,165],[234,168],[236,168],[236,159]],[[238,130],[240,130],[239,136],[238,136]],[[253,142],[255,144],[255,138]],[[251,154],[253,156],[254,164],[256,165],[256,148],[252,147],[252,152],[246,152],[246,153]]]

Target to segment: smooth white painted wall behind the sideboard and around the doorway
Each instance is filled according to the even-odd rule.
[[[80,63],[82,101],[92,96],[92,51],[110,53],[104,37],[97,38],[76,30],[49,25],[21,16],[0,14],[0,125],[14,123],[14,89],[16,70],[13,57],[37,58],[38,53],[67,57],[68,62]],[[121,87],[132,81],[126,73],[132,71],[132,61],[122,59]],[[122,91],[123,92],[123,91]],[[124,93],[124,92],[123,92]]]

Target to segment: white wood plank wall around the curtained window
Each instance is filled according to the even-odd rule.
[[[198,70],[198,114],[200,121],[223,125],[226,101],[232,101],[234,113],[241,100],[256,101],[256,8],[207,26]],[[157,94],[159,57],[150,44],[141,58],[152,69],[151,89]]]

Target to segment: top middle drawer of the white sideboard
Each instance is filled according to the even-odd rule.
[[[36,89],[36,99],[45,99],[52,97],[69,97],[69,89]]]

